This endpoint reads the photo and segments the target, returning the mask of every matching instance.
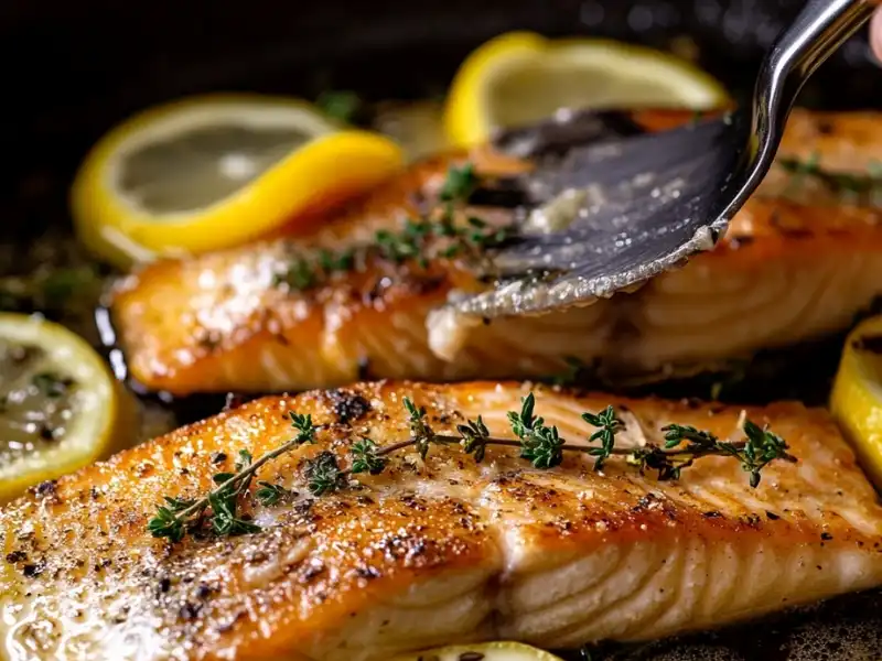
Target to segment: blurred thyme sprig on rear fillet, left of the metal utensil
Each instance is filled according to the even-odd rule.
[[[467,217],[456,224],[455,205],[465,202],[477,185],[474,166],[452,166],[441,186],[440,204],[420,218],[409,218],[398,231],[380,229],[372,242],[341,251],[326,249],[292,254],[273,283],[304,291],[326,282],[334,273],[361,268],[372,257],[396,264],[413,262],[421,269],[435,258],[469,257],[481,259],[491,248],[510,238],[510,229],[492,227],[481,218]]]

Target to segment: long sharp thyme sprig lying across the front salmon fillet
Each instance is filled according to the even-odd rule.
[[[665,432],[664,446],[645,445],[641,447],[616,447],[616,434],[625,430],[625,423],[616,415],[612,405],[598,413],[585,412],[582,420],[592,427],[587,443],[569,443],[555,425],[536,414],[536,398],[533,392],[521,398],[519,411],[507,413],[508,424],[516,438],[492,436],[487,425],[478,415],[456,425],[454,433],[437,433],[429,423],[424,407],[404,398],[404,409],[410,435],[398,443],[381,446],[373,438],[362,436],[355,440],[348,452],[349,466],[341,466],[341,457],[330,451],[320,452],[303,465],[306,488],[313,496],[322,496],[346,488],[353,476],[359,474],[379,475],[388,467],[388,456],[408,447],[413,447],[426,459],[433,445],[459,445],[475,462],[485,459],[490,445],[514,447],[520,457],[535,468],[548,469],[563,462],[564,452],[582,453],[595,457],[594,469],[601,470],[612,456],[622,456],[626,463],[636,466],[642,473],[648,469],[657,473],[657,479],[679,479],[680,473],[706,456],[724,456],[736,459],[743,470],[750,474],[751,487],[760,485],[762,470],[772,462],[783,459],[795,462],[788,454],[787,443],[767,429],[760,427],[750,420],[743,423],[744,441],[720,441],[710,432],[692,426],[670,424],[662,427]],[[254,521],[238,511],[239,498],[248,491],[257,470],[267,462],[291,452],[303,444],[315,443],[315,425],[310,415],[290,412],[291,426],[297,434],[290,441],[254,460],[247,451],[239,452],[235,473],[218,473],[214,476],[217,487],[205,497],[196,500],[164,497],[164,505],[157,507],[155,516],[148,529],[157,538],[181,541],[189,532],[208,529],[216,535],[227,537],[247,534],[260,530]],[[599,445],[595,445],[599,443]],[[258,481],[255,498],[265,506],[279,502],[288,490],[268,481]]]

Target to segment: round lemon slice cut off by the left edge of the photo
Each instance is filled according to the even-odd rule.
[[[127,408],[101,358],[40,317],[0,314],[0,501],[116,448]]]

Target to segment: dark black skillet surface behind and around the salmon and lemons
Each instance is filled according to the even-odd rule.
[[[691,37],[700,63],[743,95],[763,48],[799,0],[3,0],[7,240],[24,245],[66,227],[66,188],[88,147],[147,105],[186,94],[254,90],[314,97],[355,89],[369,99],[443,93],[462,57],[514,29],[595,34],[668,47]],[[813,78],[802,105],[882,110],[882,73],[865,40],[850,43]],[[22,250],[24,253],[25,250]],[[0,263],[0,274],[22,264]],[[799,398],[822,403],[838,342],[744,366],[721,395],[734,401]],[[667,394],[708,397],[718,377],[668,384]],[[652,389],[659,392],[658,388]],[[181,402],[183,418],[216,411],[214,398]],[[750,581],[750,577],[745,577]],[[578,658],[578,655],[576,657]],[[682,641],[602,647],[583,658],[882,658],[882,593]]]

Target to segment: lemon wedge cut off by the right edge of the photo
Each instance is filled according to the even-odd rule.
[[[882,488],[882,316],[862,322],[848,336],[830,410],[863,469]]]

